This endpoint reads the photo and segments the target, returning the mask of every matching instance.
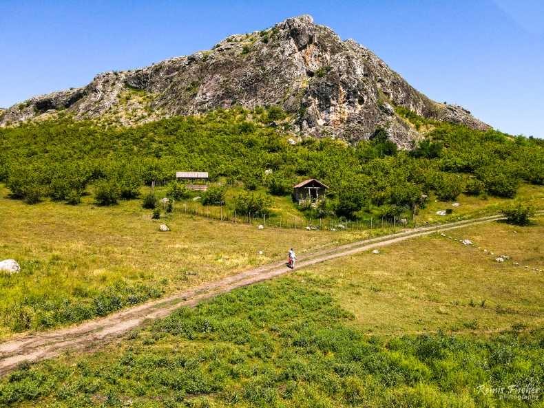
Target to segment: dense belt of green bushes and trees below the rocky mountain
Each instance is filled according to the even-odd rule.
[[[92,184],[98,203],[113,204],[138,197],[144,184],[174,180],[180,170],[209,171],[211,180],[243,182],[248,190],[264,185],[274,195],[288,194],[301,178],[318,178],[331,186],[326,211],[350,216],[379,207],[386,217],[415,211],[430,192],[440,200],[463,191],[514,197],[523,180],[544,182],[541,140],[397,113],[430,129],[410,151],[399,151],[383,129],[355,147],[315,138],[293,146],[284,131],[244,109],[123,128],[70,118],[28,123],[0,129],[0,182],[29,203],[51,197],[70,204]],[[210,204],[224,197],[214,193]]]

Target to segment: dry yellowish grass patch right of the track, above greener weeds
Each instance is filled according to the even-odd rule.
[[[433,235],[378,255],[313,266],[298,276],[320,281],[368,332],[484,332],[544,323],[544,272],[514,266],[517,259],[544,268],[544,218],[529,227],[493,223],[452,236],[475,245]],[[499,264],[483,245],[512,259]]]

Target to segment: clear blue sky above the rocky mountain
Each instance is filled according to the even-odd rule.
[[[544,137],[544,1],[0,1],[0,107],[312,14],[430,98]]]

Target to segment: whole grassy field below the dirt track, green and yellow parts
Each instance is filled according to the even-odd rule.
[[[492,391],[544,381],[544,275],[514,265],[543,266],[543,233],[467,227],[449,236],[474,246],[432,235],[234,290],[23,364],[0,406],[543,407]]]

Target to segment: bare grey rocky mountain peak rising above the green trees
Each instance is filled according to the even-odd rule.
[[[418,134],[395,115],[394,105],[427,118],[489,128],[459,106],[430,100],[366,47],[342,41],[310,16],[229,36],[210,51],[106,72],[86,87],[35,96],[0,112],[0,125],[59,111],[135,125],[233,105],[280,105],[291,114],[292,129],[314,136],[360,140],[384,127],[401,146]]]

